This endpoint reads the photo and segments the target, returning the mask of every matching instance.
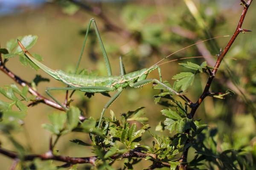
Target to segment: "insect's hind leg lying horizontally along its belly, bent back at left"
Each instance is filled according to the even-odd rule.
[[[61,104],[52,94],[50,94],[49,91],[54,91],[54,90],[104,90],[104,91],[112,91],[111,88],[107,87],[102,87],[102,86],[89,86],[89,87],[67,87],[67,88],[46,88],[45,92],[56,102],[58,103],[64,110],[67,110],[67,107]]]

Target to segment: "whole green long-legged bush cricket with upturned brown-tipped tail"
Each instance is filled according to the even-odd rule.
[[[90,76],[90,75],[77,74],[79,64],[80,64],[80,61],[81,61],[81,56],[82,56],[83,51],[84,51],[84,45],[85,45],[86,40],[87,40],[87,36],[88,36],[88,32],[89,32],[91,23],[93,23],[93,26],[94,26],[94,29],[95,29],[95,32],[96,32],[96,36],[99,40],[99,45],[102,49],[103,57],[105,59],[105,63],[106,63],[107,71],[108,71],[108,76]],[[204,40],[204,41],[206,41],[206,40]],[[204,41],[201,41],[201,42],[204,42]],[[112,72],[111,72],[111,66],[110,66],[110,63],[109,63],[109,60],[108,60],[108,56],[107,56],[107,53],[105,51],[104,45],[102,43],[101,37],[99,35],[99,31],[98,31],[98,28],[96,26],[96,22],[95,22],[94,19],[91,19],[89,24],[88,24],[87,31],[86,31],[85,38],[84,38],[84,43],[83,43],[82,50],[81,50],[81,54],[79,56],[79,60],[77,62],[74,74],[67,74],[67,73],[65,73],[64,71],[61,71],[61,70],[52,70],[52,69],[48,68],[47,66],[43,65],[41,62],[38,62],[38,60],[36,60],[26,50],[26,48],[21,44],[21,42],[19,40],[18,40],[18,44],[20,45],[20,48],[22,48],[22,50],[26,54],[26,57],[28,57],[33,63],[35,63],[35,65],[37,65],[39,68],[41,68],[43,71],[45,71],[47,74],[49,74],[53,78],[55,78],[55,79],[57,79],[61,82],[64,82],[66,85],[68,85],[68,87],[65,87],[65,88],[46,88],[46,90],[45,90],[46,93],[55,102],[57,102],[59,105],[61,105],[61,107],[64,108],[65,110],[67,110],[67,108],[63,104],[61,104],[61,102],[59,102],[57,99],[55,99],[55,97],[52,96],[52,94],[50,94],[49,91],[54,91],[54,90],[79,90],[79,91],[84,91],[84,92],[88,92],[88,93],[104,93],[104,92],[109,92],[109,91],[117,91],[116,94],[113,95],[111,97],[111,99],[109,100],[109,102],[104,106],[104,108],[102,110],[102,113],[101,113],[101,116],[100,116],[100,119],[99,119],[98,128],[101,125],[102,116],[103,116],[105,110],[121,94],[122,90],[124,88],[128,87],[128,86],[130,86],[132,88],[137,88],[137,87],[141,87],[141,86],[143,86],[147,83],[154,82],[154,83],[162,85],[164,88],[166,88],[166,90],[172,92],[173,94],[181,96],[180,93],[173,90],[172,88],[170,88],[169,86],[167,86],[166,84],[164,84],[162,82],[161,71],[160,71],[160,67],[158,65],[159,62],[161,62],[163,59],[166,59],[167,57],[171,56],[172,54],[163,58],[163,59],[161,59],[159,62],[157,62],[156,64],[152,65],[149,68],[143,68],[139,71],[134,71],[134,72],[131,72],[131,73],[128,73],[128,74],[125,74],[123,63],[122,63],[122,58],[120,57],[120,70],[121,70],[120,73],[121,74],[119,76],[113,76]],[[196,43],[196,44],[198,44],[198,43]],[[189,45],[188,47],[190,47],[190,46],[192,46],[192,45]],[[188,48],[188,47],[185,47],[185,48]],[[185,48],[183,48],[183,49],[185,49]],[[176,52],[178,52],[178,51],[176,51]],[[146,79],[148,74],[151,71],[155,70],[155,69],[158,69],[159,80],[158,79]]]

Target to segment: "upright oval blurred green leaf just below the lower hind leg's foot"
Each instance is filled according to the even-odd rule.
[[[70,107],[67,111],[67,125],[68,129],[72,130],[78,125],[79,122],[79,116],[80,116],[80,110],[76,107]]]

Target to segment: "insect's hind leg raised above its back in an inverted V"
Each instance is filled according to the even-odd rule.
[[[87,30],[86,30],[86,34],[85,34],[85,37],[84,37],[84,42],[83,42],[83,46],[82,46],[82,49],[81,49],[81,53],[80,53],[78,62],[76,64],[75,74],[77,74],[77,70],[78,70],[80,62],[81,62],[81,57],[82,57],[82,54],[83,54],[83,51],[84,51],[84,46],[85,46],[85,43],[86,43],[86,40],[87,40],[87,37],[88,37],[88,33],[89,33],[89,30],[90,30],[91,23],[93,23],[94,30],[96,32],[96,36],[99,40],[100,48],[102,49],[102,54],[103,54],[103,57],[105,59],[105,63],[106,63],[107,71],[108,71],[108,76],[112,76],[112,71],[111,71],[111,66],[110,66],[109,60],[108,60],[108,55],[107,55],[107,52],[104,48],[102,39],[101,39],[100,34],[99,34],[99,30],[98,30],[98,27],[96,25],[96,21],[94,20],[94,18],[90,19],[89,24],[87,26]]]

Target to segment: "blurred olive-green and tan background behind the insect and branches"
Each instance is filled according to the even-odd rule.
[[[38,41],[30,49],[44,57],[43,63],[52,69],[72,72],[78,60],[84,34],[90,18],[94,17],[102,36],[102,41],[111,62],[112,72],[119,75],[119,56],[123,57],[126,72],[147,68],[161,58],[200,40],[221,35],[232,35],[236,29],[242,6],[239,0],[0,0],[0,43],[6,48],[6,42],[19,36],[37,35]],[[195,7],[195,8],[193,8]],[[242,28],[255,31],[256,3],[252,3]],[[230,37],[195,45],[180,51],[170,59],[190,56],[215,56],[224,48]],[[216,140],[221,147],[239,149],[242,146],[254,146],[256,141],[256,35],[254,32],[240,34],[226,58],[221,64],[212,84],[212,91],[225,92],[230,89],[236,93],[225,99],[208,97],[198,109],[195,119],[201,119],[209,128],[218,127]],[[215,64],[215,58],[190,59],[187,61],[201,64],[207,61],[209,66]],[[173,83],[172,76],[181,71],[189,71],[178,63],[170,62],[161,66],[163,80]],[[38,91],[45,94],[46,87],[65,87],[43,71],[35,71],[20,64],[18,57],[11,58],[6,67],[22,79],[32,82],[36,74],[48,78],[41,82]],[[87,68],[98,75],[107,75],[105,62],[99,48],[93,28],[89,32],[80,68]],[[157,78],[157,71],[150,74]],[[197,76],[189,87],[187,96],[195,102],[206,84],[206,76]],[[0,72],[0,87],[14,83],[12,79]],[[154,127],[164,118],[160,111],[163,105],[154,104],[154,94],[159,91],[152,85],[143,88],[127,88],[105,112],[113,110],[116,115],[144,106],[148,124]],[[55,96],[64,101],[65,92],[55,92]],[[113,95],[111,93],[111,95]],[[2,96],[0,99],[6,100]],[[76,92],[73,105],[79,106],[86,117],[99,118],[109,98],[95,94],[90,99],[84,93]],[[23,130],[13,134],[28,153],[44,153],[48,150],[50,133],[41,128],[48,122],[47,115],[56,112],[44,104],[29,109]],[[163,132],[170,135],[167,131]],[[57,148],[65,156],[92,156],[91,150],[73,144],[69,140],[89,137],[82,133],[64,136]],[[151,136],[145,133],[142,143],[151,144]],[[0,136],[1,146],[14,150],[12,144]],[[222,148],[220,148],[221,150]],[[189,151],[191,160],[193,151]],[[118,162],[115,167],[120,167]],[[12,160],[0,155],[1,169],[8,169]],[[58,164],[58,163],[57,163]],[[142,169],[150,162],[141,161],[136,165]],[[87,165],[79,165],[86,169]]]

